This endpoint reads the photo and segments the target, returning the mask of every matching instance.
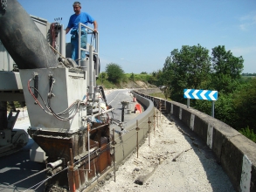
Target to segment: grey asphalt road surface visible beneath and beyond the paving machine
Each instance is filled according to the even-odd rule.
[[[131,104],[128,107],[130,107],[132,111],[134,110],[135,103],[132,102],[133,98],[129,91],[130,90],[106,91],[107,104],[114,107],[113,113],[110,113],[109,115],[114,120],[121,121],[122,100],[129,101]],[[127,114],[127,108],[125,109],[124,113],[125,122],[135,118],[135,116],[137,115],[135,113]],[[14,128],[27,130],[28,127],[30,127],[28,113],[26,111],[21,110]],[[115,127],[117,131],[120,128],[117,125],[112,125],[111,127]],[[24,182],[19,182],[15,185],[12,185],[13,183],[28,178],[31,175],[37,174],[39,171],[45,168],[44,163],[30,161],[30,149],[33,143],[34,141],[30,138],[28,144],[25,147],[23,147],[22,150],[15,154],[10,154],[8,156],[3,156],[0,158],[0,191],[41,192],[44,190],[44,183],[38,189],[35,189],[36,187],[33,186],[45,180],[45,173],[38,174],[25,180]]]

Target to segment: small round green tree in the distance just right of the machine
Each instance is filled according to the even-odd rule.
[[[108,80],[113,83],[121,82],[121,79],[124,76],[121,66],[114,63],[107,64],[105,71],[107,72]]]

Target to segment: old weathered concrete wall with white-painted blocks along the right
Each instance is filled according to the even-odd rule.
[[[205,113],[142,92],[139,94],[154,100],[154,103],[164,100],[167,113],[179,118],[205,141],[237,191],[256,191],[256,143]]]

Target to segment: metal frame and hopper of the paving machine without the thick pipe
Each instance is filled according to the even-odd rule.
[[[8,5],[20,6],[17,1]],[[10,8],[10,13],[8,11],[3,11],[6,20],[10,19],[8,14],[12,17],[11,11],[13,14],[14,11],[21,11],[18,14],[30,20],[21,9]],[[75,191],[96,179],[112,163],[110,120],[107,113],[113,108],[101,107],[102,103],[107,106],[107,100],[103,88],[96,85],[100,72],[99,33],[95,34],[85,26],[88,34],[95,38],[95,47],[90,44],[87,44],[86,49],[79,47],[88,55],[84,60],[79,59],[79,65],[76,65],[72,59],[65,57],[69,52],[69,44],[65,43],[66,31],[63,25],[58,22],[50,24],[45,19],[33,16],[31,19],[38,25],[45,41],[52,43],[49,46],[59,63],[46,68],[24,66],[17,69],[18,72],[13,71],[15,67],[4,68],[6,71],[0,73],[0,101],[3,102],[0,123],[7,122],[7,101],[25,101],[31,121],[28,134],[45,152],[42,155],[48,176],[45,190],[52,185],[59,185]],[[16,47],[13,48],[16,50]],[[35,52],[37,54],[40,53]],[[15,51],[12,51],[12,56],[16,56]],[[10,83],[4,85],[2,82],[6,78],[10,79]],[[16,119],[10,118],[11,125],[14,125]],[[7,129],[0,130],[2,143],[7,141],[3,139],[6,135],[11,137],[10,128]],[[33,158],[38,160],[35,156]]]

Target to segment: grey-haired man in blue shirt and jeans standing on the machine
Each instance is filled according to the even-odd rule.
[[[78,37],[78,32],[79,32],[79,23],[82,24],[93,24],[94,26],[94,32],[97,32],[97,27],[98,24],[96,20],[93,19],[89,14],[86,12],[81,12],[81,3],[80,2],[74,2],[73,3],[73,11],[75,14],[73,14],[69,18],[69,22],[66,27],[66,34],[72,29],[70,32],[71,36],[71,45],[72,45],[72,56],[73,60],[78,59],[78,45],[79,45],[79,37]],[[87,32],[85,27],[81,27],[81,47],[86,49],[86,44],[87,44]],[[86,58],[86,51],[81,51],[81,59]]]

